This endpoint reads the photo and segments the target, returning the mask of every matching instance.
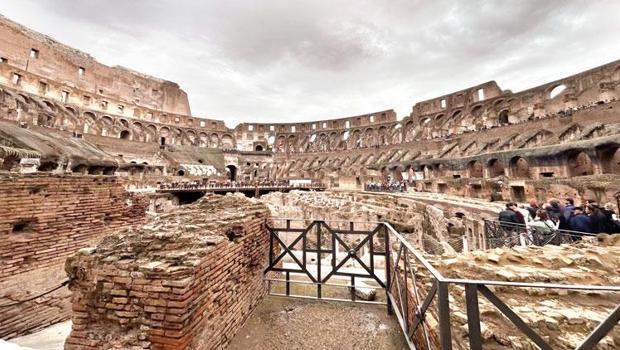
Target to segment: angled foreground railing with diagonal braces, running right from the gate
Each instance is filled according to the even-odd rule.
[[[549,343],[537,334],[510,306],[506,305],[493,291],[493,287],[510,288],[542,288],[561,289],[588,292],[618,293],[620,286],[602,285],[568,285],[554,283],[525,283],[505,282],[492,280],[454,279],[444,277],[433,267],[424,256],[402,237],[390,224],[382,223],[393,236],[398,246],[388,256],[391,257],[392,267],[388,270],[392,276],[387,286],[387,293],[391,309],[398,317],[403,332],[412,349],[452,349],[452,325],[450,321],[449,287],[461,286],[465,289],[466,317],[470,349],[482,349],[480,326],[479,298],[484,296],[494,305],[512,324],[516,326],[529,340],[541,349],[551,349]],[[393,245],[394,247],[394,245]],[[432,281],[432,286],[423,295],[420,276],[425,275]],[[432,317],[436,318],[438,332],[431,330],[427,318],[431,304],[436,304],[437,311]],[[412,303],[413,305],[411,305]],[[620,321],[620,304],[604,319],[596,329],[576,349],[592,349],[603,339]],[[438,344],[437,344],[438,343]]]

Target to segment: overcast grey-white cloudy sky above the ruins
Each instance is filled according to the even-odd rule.
[[[620,59],[617,0],[0,0],[0,12],[179,83],[194,116],[295,122],[496,80],[523,90]]]

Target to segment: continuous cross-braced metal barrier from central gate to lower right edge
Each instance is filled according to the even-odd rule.
[[[383,234],[383,243],[385,245],[383,252],[377,252],[377,254],[383,256],[385,258],[385,267],[381,273],[385,273],[385,283],[381,283],[379,281],[379,285],[385,290],[387,297],[387,308],[389,313],[395,313],[398,318],[398,323],[403,331],[403,334],[406,338],[407,344],[411,349],[417,349],[416,346],[422,346],[423,348],[430,349],[431,348],[431,325],[427,323],[426,317],[432,315],[436,318],[436,322],[433,323],[432,332],[436,332],[435,335],[432,335],[433,338],[436,339],[439,343],[436,344],[437,348],[442,350],[451,350],[452,349],[452,324],[451,324],[451,313],[454,312],[451,309],[450,304],[450,285],[460,285],[465,289],[465,305],[466,307],[465,313],[467,317],[467,326],[468,326],[468,338],[469,338],[469,346],[474,350],[481,350],[483,338],[481,334],[481,320],[480,320],[480,308],[479,308],[479,299],[486,298],[488,302],[490,302],[497,310],[499,310],[500,314],[505,316],[512,324],[530,341],[534,342],[541,349],[551,349],[548,341],[543,338],[540,334],[537,333],[537,329],[533,328],[528,322],[524,321],[517,313],[515,313],[511,306],[507,305],[501,299],[501,294],[495,294],[490,286],[499,286],[499,287],[511,287],[511,288],[543,288],[543,289],[555,289],[555,290],[581,290],[581,291],[596,291],[596,292],[611,292],[617,293],[620,292],[620,286],[618,285],[586,285],[586,284],[561,284],[561,283],[545,283],[545,282],[511,282],[511,281],[495,281],[495,280],[485,280],[485,279],[467,279],[467,278],[448,278],[445,277],[433,264],[426,259],[424,256],[424,252],[415,248],[407,239],[399,233],[390,223],[388,222],[372,222],[372,221],[351,221],[351,220],[325,220],[325,219],[313,219],[313,218],[287,218],[287,217],[274,217],[271,218],[272,221],[286,221],[286,227],[271,227],[270,228],[270,239],[272,240],[270,243],[270,266],[265,270],[285,273],[285,279],[269,279],[266,280],[268,283],[271,282],[283,282],[286,283],[286,292],[285,294],[274,294],[281,296],[292,296],[290,294],[289,284],[294,283],[290,279],[291,273],[306,273],[305,264],[305,252],[318,252],[318,256],[321,256],[321,253],[331,253],[335,254],[333,247],[325,250],[321,249],[320,239],[318,243],[318,247],[316,249],[309,250],[306,247],[306,238],[307,234],[312,230],[312,234],[316,234],[317,237],[320,237],[321,227],[324,227],[328,233],[332,235],[332,239],[341,242],[344,245],[344,241],[338,236],[341,233],[345,234],[347,232],[350,233],[367,233],[369,236],[363,240],[361,243],[358,243],[355,246],[352,246],[353,249],[350,249],[346,245],[344,245],[345,250],[349,249],[349,257],[352,257],[356,261],[361,263],[359,257],[357,256],[357,252],[366,242],[369,241],[369,238],[372,235],[381,232]],[[489,220],[490,221],[490,220]],[[293,228],[291,227],[291,222],[303,222],[310,224],[305,224],[303,229]],[[328,223],[348,223],[350,224],[349,230],[340,230],[331,228]],[[370,231],[359,231],[354,230],[355,223],[363,223],[366,225],[376,225],[374,229]],[[522,225],[525,227],[524,225]],[[314,229],[316,228],[316,232]],[[299,235],[293,242],[287,242],[284,244],[278,236],[278,232],[295,232]],[[588,235],[593,236],[593,235]],[[394,240],[392,241],[392,239]],[[275,241],[275,242],[274,242]],[[277,243],[279,242],[279,243]],[[293,246],[298,242],[302,242],[304,255],[300,259],[300,262],[292,253],[291,250]],[[371,265],[367,271],[369,275],[358,275],[358,274],[350,274],[352,278],[351,283],[347,284],[346,287],[356,288],[356,284],[354,282],[357,277],[364,278],[374,278],[374,265],[372,265],[372,257],[373,255],[373,245],[372,240],[370,240],[371,248]],[[279,244],[284,253],[279,253],[277,259],[273,259],[273,248],[275,244]],[[286,253],[291,254],[291,258],[297,262],[299,266],[301,266],[300,271],[293,271],[290,269],[284,268],[272,268],[275,267],[275,264],[278,263],[281,257],[285,256]],[[411,258],[413,256],[413,258]],[[319,258],[320,259],[320,258]],[[335,264],[335,260],[333,260],[332,256],[332,264]],[[348,259],[348,258],[347,258]],[[330,273],[328,273],[325,277],[320,278],[318,281],[313,280],[313,282],[303,282],[298,281],[297,283],[304,283],[307,285],[315,285],[317,286],[317,298],[318,299],[329,299],[322,297],[321,287],[328,285],[327,280],[334,274],[334,271],[337,271],[338,268],[344,264],[346,260],[342,260],[337,266],[334,266]],[[317,263],[317,273],[318,276],[321,276],[320,266],[321,261],[319,260]],[[363,265],[363,263],[361,263]],[[417,267],[416,267],[417,266]],[[429,279],[432,282],[432,286],[430,289],[425,290],[423,285],[420,285],[420,275],[430,275]],[[311,278],[312,279],[312,278]],[[425,280],[426,281],[426,280]],[[271,288],[271,287],[270,287]],[[271,292],[271,289],[270,289]],[[355,301],[354,292],[352,293],[351,301]],[[426,295],[422,295],[425,293]],[[412,297],[415,295],[415,297]],[[413,299],[412,299],[413,298]],[[343,299],[338,299],[343,300]],[[585,340],[581,343],[578,349],[590,349],[594,345],[598,344],[603,337],[605,337],[610,330],[617,324],[618,320],[620,320],[620,305],[616,306],[615,310],[611,312],[600,324],[598,327],[592,331],[589,335],[585,337]],[[421,332],[421,333],[420,333]],[[417,341],[420,341],[420,344],[417,344]]]

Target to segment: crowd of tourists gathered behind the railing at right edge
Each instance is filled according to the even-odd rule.
[[[564,203],[552,199],[542,205],[532,199],[528,206],[522,207],[508,203],[506,209],[499,213],[498,220],[504,228],[524,225],[530,231],[545,234],[557,230],[620,233],[620,218],[612,203],[600,206],[586,201],[583,206],[575,206],[572,198],[567,198]]]

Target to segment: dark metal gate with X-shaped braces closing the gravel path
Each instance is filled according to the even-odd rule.
[[[266,278],[270,294],[295,296],[291,293],[291,285],[311,284],[316,287],[315,295],[301,297],[357,301],[356,281],[372,280],[378,285],[377,289],[382,290],[386,290],[386,285],[389,285],[390,264],[386,262],[389,261],[390,242],[385,225],[352,221],[335,222],[339,227],[347,226],[346,229],[342,229],[332,227],[323,220],[312,221],[305,227],[299,227],[303,226],[303,220],[275,219],[274,222],[282,222],[284,225],[268,227],[269,266],[265,269],[265,274],[276,272],[280,277],[283,275],[284,279]],[[333,224],[334,221],[330,223]],[[364,226],[366,229],[358,228],[356,225]],[[368,229],[369,226],[374,227]],[[285,235],[288,237],[284,237]],[[284,259],[287,256],[294,262],[289,264],[293,265],[292,267],[285,266]],[[324,264],[325,259],[329,260],[329,268]],[[378,260],[381,262],[379,267]],[[356,271],[347,269],[347,263],[356,264],[359,268]],[[294,280],[291,278],[292,274],[307,277],[309,281],[300,281],[299,278]],[[335,276],[348,278],[348,284],[330,283]],[[284,293],[273,292],[272,282],[284,283]],[[349,299],[325,297],[323,295],[325,286],[349,288]]]

